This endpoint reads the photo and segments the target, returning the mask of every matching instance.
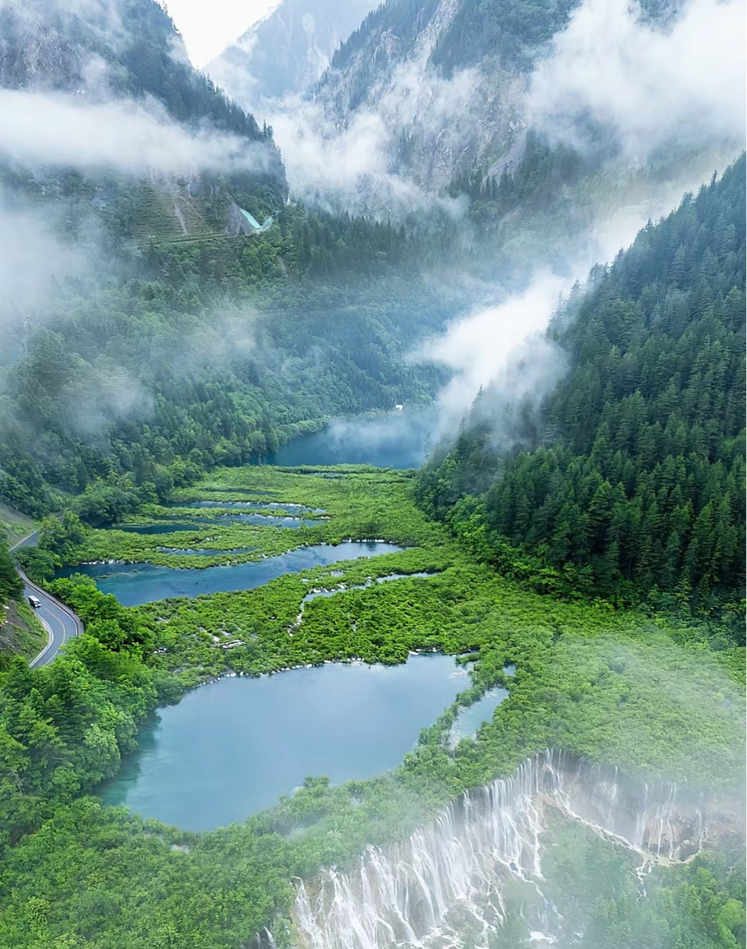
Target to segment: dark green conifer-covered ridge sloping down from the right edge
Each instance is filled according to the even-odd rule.
[[[569,371],[532,450],[491,448],[488,391],[424,472],[426,510],[499,568],[657,605],[743,595],[744,172],[687,195],[561,308]]]

